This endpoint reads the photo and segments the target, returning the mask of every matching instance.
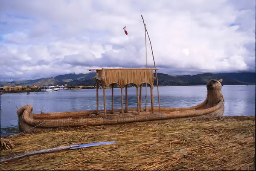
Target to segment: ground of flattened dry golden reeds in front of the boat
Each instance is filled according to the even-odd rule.
[[[2,163],[0,170],[254,170],[255,116],[70,128],[6,139],[15,147],[1,151],[1,159],[77,143],[116,143],[25,157]]]

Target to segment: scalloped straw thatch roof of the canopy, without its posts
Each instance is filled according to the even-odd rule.
[[[140,84],[148,83],[153,87],[154,75],[153,70],[157,68],[102,68],[89,69],[96,71],[95,79],[99,80],[103,86],[108,87],[109,84],[116,83],[121,87],[126,84],[133,83],[137,87]]]

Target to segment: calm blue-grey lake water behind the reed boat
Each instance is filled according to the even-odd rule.
[[[124,89],[125,90],[125,89]],[[154,106],[158,106],[157,87],[154,87]],[[145,107],[145,87],[142,90]],[[255,116],[255,85],[225,85],[224,116]],[[120,89],[114,89],[114,108],[121,108]],[[125,106],[125,91],[124,91]],[[161,107],[191,107],[206,99],[206,86],[159,87]],[[96,89],[59,90],[57,92],[10,93],[0,96],[1,133],[18,133],[17,107],[33,106],[34,113],[96,110]],[[17,107],[16,107],[17,106]],[[150,107],[150,88],[147,88]],[[106,90],[106,107],[111,109],[111,90]],[[136,88],[128,88],[128,107],[137,107]],[[99,110],[103,110],[103,90],[99,90]]]

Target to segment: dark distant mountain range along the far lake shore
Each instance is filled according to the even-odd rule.
[[[93,77],[96,72],[89,72],[87,74],[65,74],[58,75],[54,78],[41,78],[36,80],[25,81],[12,81],[12,82],[0,82],[0,86],[42,86],[45,85],[62,85],[68,86],[77,85],[95,85]],[[222,84],[224,85],[239,85],[239,84],[255,84],[255,72],[239,72],[239,73],[204,73],[197,75],[167,75],[163,73],[157,73],[159,86],[172,86],[172,85],[206,85],[210,79],[223,78]],[[156,79],[154,85],[157,85]]]

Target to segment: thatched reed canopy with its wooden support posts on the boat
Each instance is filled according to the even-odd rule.
[[[121,113],[124,113],[123,107],[123,88],[125,87],[125,113],[128,113],[128,94],[127,86],[133,83],[137,88],[137,112],[140,113],[141,101],[142,101],[142,85],[144,83],[149,84],[150,94],[151,94],[151,112],[154,113],[154,98],[153,98],[153,83],[154,75],[153,70],[158,70],[157,68],[102,68],[102,69],[89,69],[89,71],[96,71],[96,112],[99,113],[99,87],[102,84],[103,89],[103,103],[104,103],[104,113],[106,115],[106,96],[105,89],[113,84],[118,84],[121,89]],[[140,95],[139,95],[140,88]],[[113,105],[113,93],[112,88],[112,113],[114,113]]]

